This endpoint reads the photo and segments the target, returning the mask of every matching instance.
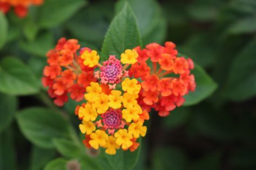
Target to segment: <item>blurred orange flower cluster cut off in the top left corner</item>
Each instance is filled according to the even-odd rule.
[[[28,14],[29,6],[41,5],[43,0],[0,0],[0,11],[7,13],[14,8],[18,17],[25,17]]]

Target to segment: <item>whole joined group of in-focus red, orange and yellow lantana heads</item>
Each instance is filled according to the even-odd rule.
[[[47,54],[49,65],[42,82],[59,106],[68,96],[84,101],[75,114],[87,148],[102,147],[107,154],[120,148],[133,152],[138,138],[146,134],[144,121],[149,120],[150,110],[167,116],[196,88],[190,73],[193,61],[178,57],[175,47],[172,42],[152,43],[99,62],[97,51],[80,48],[76,39],[62,38]]]

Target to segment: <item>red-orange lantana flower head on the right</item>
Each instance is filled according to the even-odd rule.
[[[142,80],[138,103],[148,111],[154,108],[159,116],[168,116],[180,107],[185,102],[184,95],[196,88],[190,73],[193,61],[178,57],[175,48],[173,42],[165,42],[165,46],[152,43],[144,49],[138,46],[134,48],[138,61],[129,69],[131,77]]]

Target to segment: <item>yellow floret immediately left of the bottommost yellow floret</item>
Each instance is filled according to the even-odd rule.
[[[91,147],[95,148],[96,150],[100,147],[105,147],[106,140],[109,136],[107,136],[106,132],[103,130],[97,130],[95,133],[91,133],[89,144]]]

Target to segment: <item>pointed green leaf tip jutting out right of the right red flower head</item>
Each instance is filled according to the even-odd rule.
[[[217,84],[205,72],[205,70],[197,64],[194,65],[194,69],[191,71],[191,74],[194,75],[197,87],[195,91],[190,91],[188,95],[184,96],[186,99],[184,106],[197,104],[203,101],[217,89]]]

